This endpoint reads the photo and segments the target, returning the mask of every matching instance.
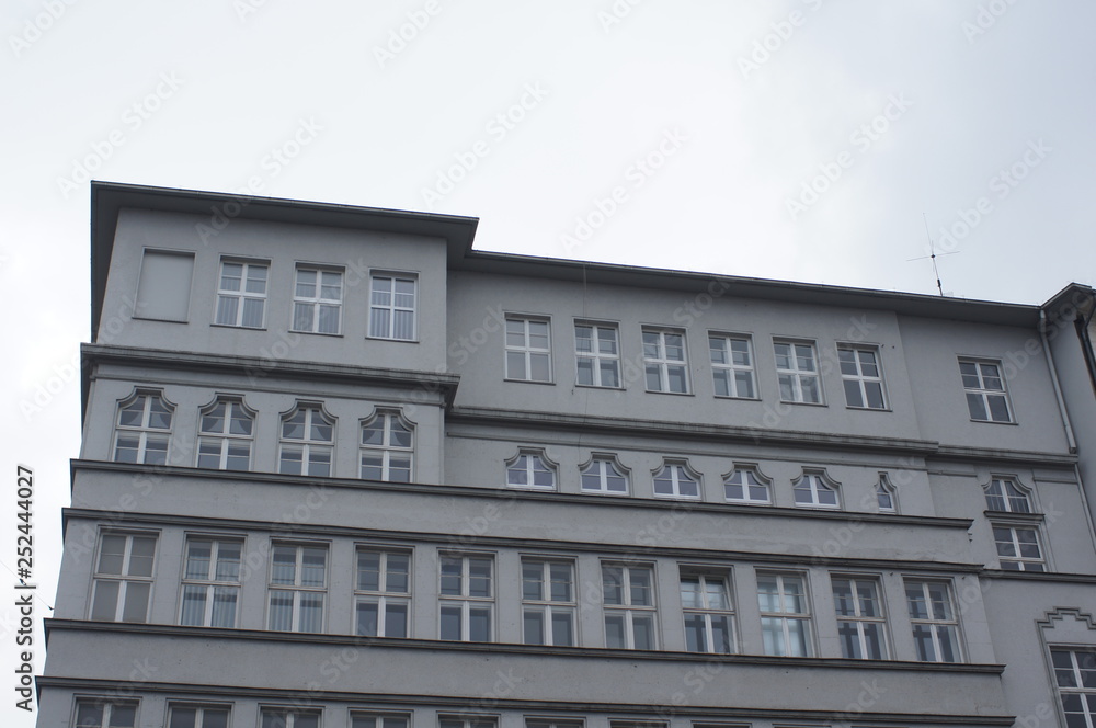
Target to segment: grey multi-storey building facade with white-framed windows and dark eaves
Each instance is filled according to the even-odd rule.
[[[1043,309],[475,229],[93,185],[39,726],[1096,725]]]

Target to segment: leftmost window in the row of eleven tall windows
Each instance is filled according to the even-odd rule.
[[[91,618],[147,622],[156,536],[104,533],[92,584]]]

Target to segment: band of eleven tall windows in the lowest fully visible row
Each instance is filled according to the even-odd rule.
[[[159,535],[100,534],[91,619],[148,622],[156,585],[165,592],[161,600],[178,605],[178,623],[194,627],[715,655],[967,659],[955,585],[946,576],[187,534],[176,545],[181,571],[158,584],[157,571],[168,570],[157,565]],[[353,569],[352,579],[331,579],[332,558]],[[265,603],[243,604],[243,587],[260,569]],[[340,593],[331,593],[332,581]],[[258,590],[249,593],[258,599]],[[756,595],[756,611],[751,605],[744,615],[737,594]],[[413,603],[422,614],[421,600],[433,613],[429,627],[412,618]],[[502,628],[500,605],[511,614]],[[241,614],[250,615],[244,624]],[[899,645],[891,629],[909,639]]]

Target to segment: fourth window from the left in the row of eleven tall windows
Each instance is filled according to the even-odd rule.
[[[357,549],[356,630],[366,637],[408,637],[411,551]]]

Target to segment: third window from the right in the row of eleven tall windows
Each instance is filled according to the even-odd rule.
[[[802,576],[758,572],[757,606],[765,655],[811,656],[811,608]]]

